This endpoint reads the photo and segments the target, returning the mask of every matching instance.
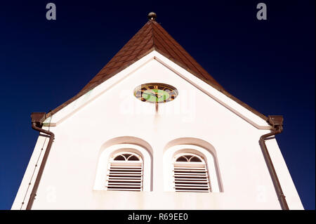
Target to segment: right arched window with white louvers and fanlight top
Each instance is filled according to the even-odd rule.
[[[173,183],[176,192],[211,192],[209,172],[197,154],[177,154],[173,161]]]

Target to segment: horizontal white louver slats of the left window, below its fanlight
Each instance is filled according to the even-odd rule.
[[[143,164],[137,166],[115,166],[110,163],[107,172],[107,190],[141,191],[143,190]]]

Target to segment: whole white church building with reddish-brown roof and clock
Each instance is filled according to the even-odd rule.
[[[77,95],[31,117],[12,209],[303,209],[282,116],[225,91],[155,13]]]

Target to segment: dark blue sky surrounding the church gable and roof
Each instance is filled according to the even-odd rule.
[[[57,20],[46,20],[48,2]],[[259,2],[268,20],[256,19]],[[31,112],[77,94],[150,11],[228,92],[284,115],[279,147],[305,209],[315,209],[314,0],[1,2],[0,209],[11,209],[37,140]]]

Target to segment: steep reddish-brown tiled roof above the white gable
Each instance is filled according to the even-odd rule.
[[[253,108],[249,107],[242,101],[238,100],[234,96],[230,95],[225,89],[218,84],[218,82],[211,77],[211,75],[204,70],[204,68],[197,63],[197,61],[192,58],[192,56],[185,51],[185,49],[178,44],[178,42],[173,39],[166,30],[159,25],[158,22],[154,20],[148,21],[133,37],[132,39],[127,42],[121,50],[114,55],[114,57],[110,60],[110,62],[103,67],[96,76],[91,79],[91,81],[81,89],[81,91],[75,95],[67,102],[63,103],[59,107],[55,108],[47,114],[47,117],[55,114],[65,107],[66,105],[72,103],[72,101],[79,98],[81,95],[84,95],[91,89],[95,88],[96,86],[102,84],[110,77],[113,77],[115,74],[121,72],[129,65],[132,65],[134,62],[143,58],[143,56],[147,55],[151,51],[157,51],[164,55],[169,60],[172,60],[180,67],[183,67],[188,72],[194,74],[199,79],[202,79],[206,83],[210,84],[214,88],[218,89],[218,91],[228,95],[228,97],[235,100],[237,103],[243,105],[248,110],[251,110],[259,117],[263,119],[267,119],[265,115],[257,112]]]

